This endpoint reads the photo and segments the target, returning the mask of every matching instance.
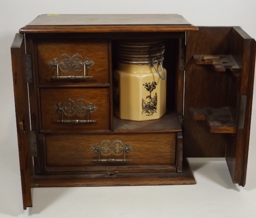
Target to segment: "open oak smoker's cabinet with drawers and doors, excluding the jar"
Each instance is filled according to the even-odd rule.
[[[160,119],[113,115],[120,39],[164,41]],[[187,157],[225,157],[244,186],[255,48],[178,14],[38,16],[11,47],[24,209],[33,187],[196,184]]]

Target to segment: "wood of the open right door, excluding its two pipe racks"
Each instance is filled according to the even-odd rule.
[[[207,38],[207,42],[203,39]],[[197,42],[200,42],[198,44]],[[240,27],[200,27],[187,35],[187,71],[185,84],[184,155],[186,157],[226,157],[232,181],[244,186],[252,109],[252,85],[255,67],[255,40]],[[226,73],[215,76],[213,69],[192,64],[192,55],[232,55],[239,63],[240,77]],[[235,122],[241,111],[240,98],[247,96],[244,128],[236,134],[208,134],[206,124],[191,121],[189,108],[228,107]],[[211,106],[210,106],[211,105]],[[215,132],[215,129],[212,129]],[[227,129],[223,129],[224,132]],[[223,136],[222,136],[223,135]],[[225,146],[226,145],[226,146]],[[210,147],[209,147],[210,146]]]

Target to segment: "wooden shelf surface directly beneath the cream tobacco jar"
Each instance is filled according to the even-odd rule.
[[[166,113],[160,119],[150,121],[130,121],[113,117],[115,133],[181,132],[176,113]]]

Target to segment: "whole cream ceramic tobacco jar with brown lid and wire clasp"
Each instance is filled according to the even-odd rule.
[[[114,114],[120,119],[146,121],[166,113],[164,43],[156,40],[121,41],[114,71]]]

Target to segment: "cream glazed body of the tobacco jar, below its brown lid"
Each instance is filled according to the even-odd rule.
[[[154,64],[166,77],[159,63]],[[118,63],[114,71],[114,114],[120,119],[146,121],[166,113],[166,78],[154,67]]]

